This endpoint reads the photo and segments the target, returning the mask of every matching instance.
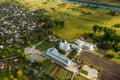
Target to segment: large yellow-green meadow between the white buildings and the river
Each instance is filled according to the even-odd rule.
[[[68,41],[80,37],[81,34],[92,32],[92,26],[95,24],[111,27],[120,21],[120,16],[108,15],[108,10],[105,9],[91,9],[80,5],[75,6],[74,4],[64,5],[66,8],[63,6],[64,8],[62,10],[54,11],[52,14],[54,15],[53,17],[65,21],[65,28],[54,28],[53,31]],[[78,10],[67,9],[69,7]],[[91,14],[86,15],[83,12],[90,12]],[[117,29],[117,31],[119,32],[120,29]]]

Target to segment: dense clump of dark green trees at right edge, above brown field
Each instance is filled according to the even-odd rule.
[[[120,35],[116,33],[116,30],[99,25],[94,25],[92,28],[93,38],[98,43],[99,48],[120,50]]]

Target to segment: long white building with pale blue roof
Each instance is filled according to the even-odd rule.
[[[71,60],[64,59],[63,57],[61,57],[56,48],[49,48],[45,51],[45,54],[50,58],[53,58],[53,60],[55,60],[56,63],[58,62],[58,64],[61,63],[65,66],[69,66],[72,62]]]

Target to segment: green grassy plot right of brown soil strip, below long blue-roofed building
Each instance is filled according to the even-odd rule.
[[[70,80],[72,77],[72,72],[65,70],[64,68],[61,68],[58,73],[56,74],[56,77],[59,80]]]

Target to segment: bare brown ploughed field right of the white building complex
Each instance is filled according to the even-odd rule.
[[[79,57],[103,69],[100,80],[120,80],[120,64],[110,62],[86,51],[82,51]]]

